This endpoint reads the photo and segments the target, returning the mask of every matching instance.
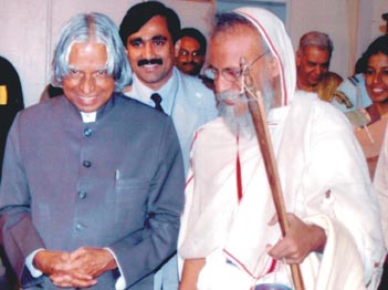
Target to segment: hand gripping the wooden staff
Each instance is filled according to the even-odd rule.
[[[269,255],[276,260],[285,259],[286,263],[301,263],[312,251],[322,252],[326,244],[323,228],[303,222],[294,214],[287,214],[290,222],[285,237],[269,250]],[[275,225],[277,216],[269,225]]]

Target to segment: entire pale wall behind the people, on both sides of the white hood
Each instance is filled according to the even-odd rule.
[[[289,8],[287,30],[297,46],[308,30],[327,32],[335,45],[332,70],[342,76],[352,73],[355,60],[371,40],[385,33],[381,13],[387,0],[274,0]],[[0,54],[17,68],[25,105],[38,102],[50,80],[50,62],[59,29],[81,11],[108,14],[119,24],[126,10],[137,0],[0,0]],[[165,0],[181,18],[182,25],[208,32],[211,1]],[[260,0],[258,0],[260,2]]]

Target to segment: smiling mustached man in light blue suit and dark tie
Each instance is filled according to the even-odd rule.
[[[125,14],[119,34],[134,72],[126,95],[162,110],[172,117],[187,172],[193,132],[217,116],[216,100],[198,77],[181,73],[175,64],[180,32],[177,13],[157,1],[135,4]],[[155,95],[157,93],[157,95]],[[154,101],[151,97],[157,96]],[[177,289],[176,258],[156,275],[155,289]]]

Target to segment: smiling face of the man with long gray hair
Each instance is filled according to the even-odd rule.
[[[69,55],[70,73],[63,80],[63,91],[80,111],[97,111],[112,97],[115,80],[107,74],[106,62],[104,44],[73,44]]]

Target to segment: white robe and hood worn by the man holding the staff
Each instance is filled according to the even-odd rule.
[[[339,111],[316,95],[295,93],[294,54],[282,22],[259,8],[237,12],[258,28],[277,58],[283,105],[293,97],[290,108],[280,114],[279,108],[273,110],[274,120],[269,117],[275,124],[271,135],[287,211],[316,222],[327,234],[323,257],[312,253],[302,265],[306,289],[363,289],[384,249],[377,199],[352,127]],[[238,149],[244,194],[240,204]],[[240,139],[238,148],[235,137],[218,118],[197,132],[191,157],[179,255],[207,258],[199,282],[213,287],[203,289],[244,289],[229,282],[232,275],[228,272],[221,277],[229,288],[213,283],[216,272],[223,269],[217,263],[211,267],[214,263],[208,260],[217,251],[223,251],[244,273],[237,284],[265,280],[272,265],[265,248],[280,238],[280,230],[268,226],[275,211],[256,141]]]

